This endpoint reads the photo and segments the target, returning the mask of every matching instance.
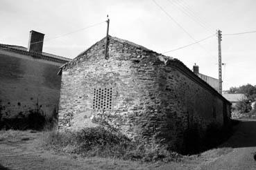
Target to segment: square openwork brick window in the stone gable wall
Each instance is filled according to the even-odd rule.
[[[112,88],[94,88],[94,110],[112,109]]]

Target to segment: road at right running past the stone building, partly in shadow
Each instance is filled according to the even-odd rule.
[[[256,169],[253,158],[256,153],[256,121],[241,120],[237,131],[221,147],[234,149],[214,161],[202,164],[198,169]]]

